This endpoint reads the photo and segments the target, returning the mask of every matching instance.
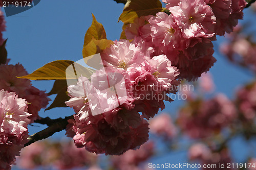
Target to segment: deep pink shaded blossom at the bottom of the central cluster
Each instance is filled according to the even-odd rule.
[[[148,124],[143,119],[138,122],[137,116],[130,113],[131,111],[120,110],[96,116],[87,114],[84,119],[80,118],[83,115],[75,116],[75,144],[79,148],[85,147],[89,152],[106,155],[120,155],[135,149],[147,141]]]

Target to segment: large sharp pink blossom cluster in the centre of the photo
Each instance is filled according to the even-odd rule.
[[[68,87],[71,99],[66,104],[77,114],[67,134],[75,135],[77,147],[120,155],[148,140],[145,119],[164,109],[166,94],[179,85],[179,72],[166,56],[151,58],[128,40],[115,41],[101,57],[104,67],[91,81],[81,76]]]

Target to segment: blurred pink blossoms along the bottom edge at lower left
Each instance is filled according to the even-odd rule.
[[[25,147],[17,158],[17,165],[23,169],[73,169],[96,163],[96,154],[76,148],[70,141],[38,141]]]

